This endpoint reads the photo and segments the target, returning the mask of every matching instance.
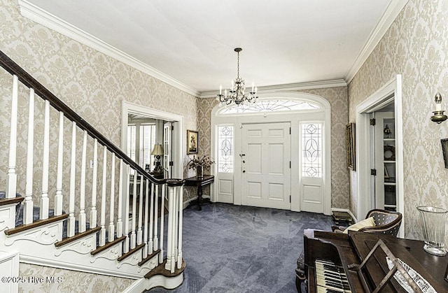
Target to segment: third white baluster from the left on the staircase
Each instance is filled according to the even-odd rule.
[[[50,102],[45,100],[45,113],[43,117],[43,158],[42,158],[42,195],[40,219],[48,219],[48,171],[50,165]]]

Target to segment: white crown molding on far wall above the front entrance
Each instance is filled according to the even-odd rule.
[[[346,87],[347,83],[343,79],[337,80],[321,80],[314,81],[311,83],[288,83],[285,85],[267,85],[265,87],[258,87],[258,93],[263,92],[294,92],[300,90],[313,90],[313,89],[323,89],[327,87]],[[218,90],[202,92],[200,98],[216,98]]]

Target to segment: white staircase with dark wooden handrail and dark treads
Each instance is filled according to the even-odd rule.
[[[153,178],[1,51],[0,66],[0,291],[18,292],[20,263],[133,279],[126,292],[181,285],[183,180]]]

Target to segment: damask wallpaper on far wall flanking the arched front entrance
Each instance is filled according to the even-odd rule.
[[[302,90],[316,94],[330,102],[331,105],[331,206],[332,208],[349,208],[349,171],[346,168],[345,126],[347,124],[347,88],[332,87],[316,90]],[[216,99],[200,99],[197,125],[200,129],[200,150],[210,154],[211,145],[211,110],[218,104]]]

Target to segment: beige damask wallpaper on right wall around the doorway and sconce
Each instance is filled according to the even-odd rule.
[[[440,138],[448,136],[448,124],[430,121],[437,91],[444,98],[442,108],[448,108],[447,52],[448,1],[409,0],[349,84],[349,122],[354,122],[356,106],[402,74],[407,238],[423,238],[416,206],[448,208],[448,169],[440,145]],[[356,214],[355,175],[352,172],[351,210]]]

